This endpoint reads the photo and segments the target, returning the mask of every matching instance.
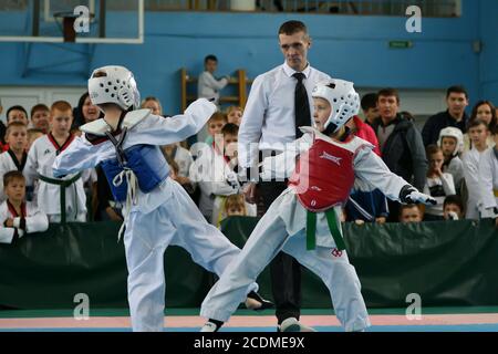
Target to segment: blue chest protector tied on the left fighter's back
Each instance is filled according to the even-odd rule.
[[[101,166],[116,201],[124,202],[126,200],[126,178],[123,177],[117,186],[113,183],[114,178],[125,168],[134,171],[138,180],[138,187],[143,192],[152,191],[168,176],[168,164],[157,146],[134,145],[123,150],[121,144],[114,145],[117,157],[102,162]]]

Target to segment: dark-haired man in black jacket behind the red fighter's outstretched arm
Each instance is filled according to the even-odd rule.
[[[403,177],[418,190],[425,186],[427,160],[421,133],[412,121],[398,114],[400,95],[395,88],[383,88],[377,93],[381,115],[373,125],[381,147],[382,159],[396,175]],[[400,204],[388,200],[388,221],[396,221]]]

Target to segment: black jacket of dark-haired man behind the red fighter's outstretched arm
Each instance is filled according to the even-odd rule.
[[[391,124],[395,124],[395,127],[382,146],[382,159],[391,171],[422,191],[427,174],[427,158],[421,133],[412,121],[404,119],[400,115]],[[374,122],[375,134],[381,125],[381,118]]]

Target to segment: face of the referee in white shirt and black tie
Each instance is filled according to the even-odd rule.
[[[286,58],[287,64],[295,71],[303,71],[308,65],[308,50],[311,39],[303,32],[294,34],[279,34],[280,50]]]

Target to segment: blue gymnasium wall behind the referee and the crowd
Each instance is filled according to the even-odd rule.
[[[197,74],[204,56],[214,53],[219,74],[245,67],[253,77],[283,62],[276,32],[283,21],[299,19],[313,38],[312,65],[352,80],[357,87],[440,90],[461,83],[471,104],[480,94],[498,102],[498,71],[492,65],[498,52],[497,7],[492,0],[463,0],[460,18],[423,18],[422,33],[406,32],[407,18],[402,15],[146,12],[143,45],[0,42],[0,86],[81,86],[92,67],[123,64],[135,72],[143,96],[156,95],[165,112],[177,113],[179,67]],[[9,21],[19,19],[0,19],[0,31]],[[480,54],[473,46],[479,39]],[[392,40],[414,45],[390,49]]]

